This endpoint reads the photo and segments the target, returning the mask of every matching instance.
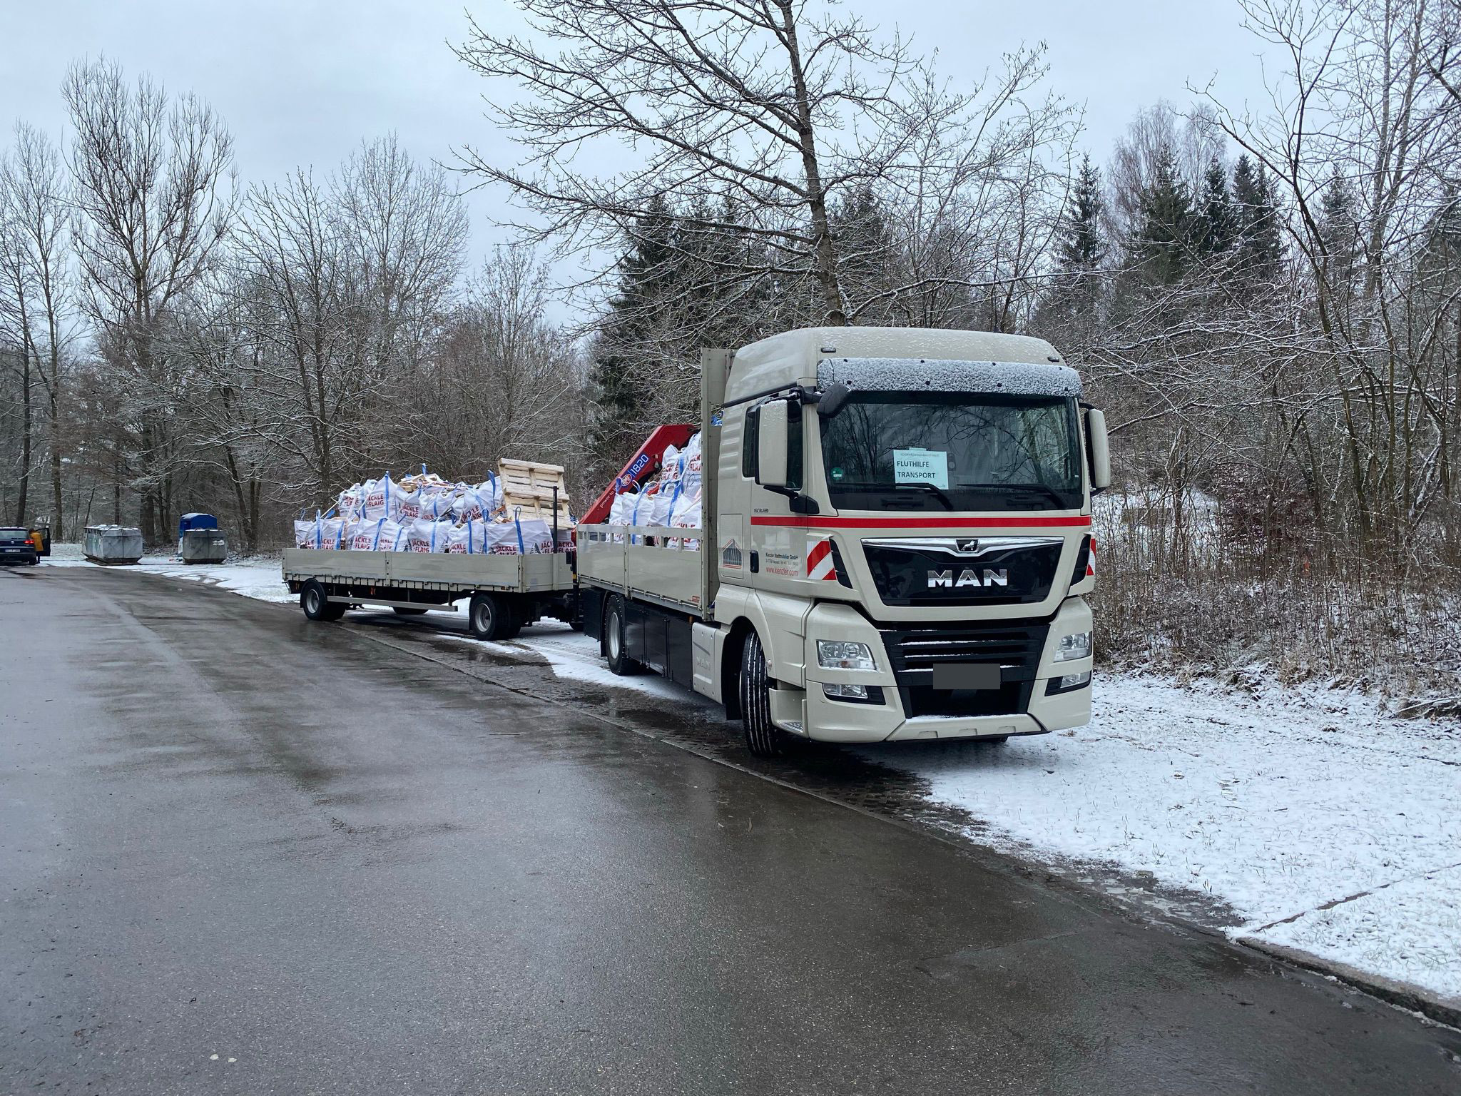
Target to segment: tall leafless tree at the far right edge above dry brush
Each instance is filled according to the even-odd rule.
[[[1359,535],[1395,547],[1439,497],[1457,433],[1436,370],[1455,281],[1417,265],[1455,203],[1461,156],[1461,102],[1433,69],[1427,38],[1436,6],[1243,0],[1286,69],[1271,114],[1217,114],[1281,181],[1322,332],[1315,362],[1331,377],[1343,438],[1332,471]]]

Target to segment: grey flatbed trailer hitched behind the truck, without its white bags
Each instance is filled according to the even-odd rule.
[[[402,615],[454,612],[470,598],[468,623],[478,639],[511,639],[551,617],[577,623],[576,561],[570,552],[356,552],[286,548],[283,580],[310,620],[333,621],[348,609],[380,605]]]

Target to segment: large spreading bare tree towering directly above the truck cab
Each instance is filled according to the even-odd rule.
[[[942,172],[948,200],[991,171],[980,137],[1043,75],[1039,51],[1021,51],[988,102],[950,94],[904,42],[820,0],[517,3],[530,37],[473,22],[457,53],[520,88],[522,99],[491,105],[527,156],[510,168],[469,148],[466,168],[542,215],[527,229],[539,238],[618,246],[656,203],[700,232],[751,237],[760,247],[728,256],[725,273],[773,278],[783,295],[809,281],[825,323],[858,304],[839,272],[837,196],[877,181],[913,196]],[[627,167],[583,170],[580,152],[600,143]],[[728,203],[739,216],[723,215]]]

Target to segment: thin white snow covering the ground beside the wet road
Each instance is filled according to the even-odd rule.
[[[72,549],[57,545],[50,566],[92,566]],[[134,570],[292,601],[278,560],[149,557]],[[558,677],[700,703],[653,675],[614,677],[567,627],[491,646],[526,647]],[[1233,937],[1461,1001],[1461,723],[1395,719],[1319,687],[1097,674],[1094,688],[1096,718],[1077,731],[862,753],[977,818],[973,840],[1107,883],[1207,894],[1232,910]]]

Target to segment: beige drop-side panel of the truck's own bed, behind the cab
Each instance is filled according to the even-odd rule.
[[[703,617],[704,532],[650,525],[580,525],[579,576],[627,598]]]

